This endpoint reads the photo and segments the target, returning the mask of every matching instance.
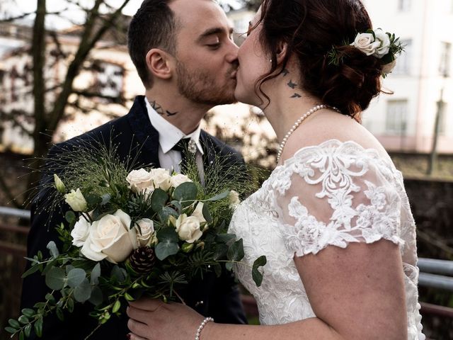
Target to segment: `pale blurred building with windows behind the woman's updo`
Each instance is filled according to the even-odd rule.
[[[390,152],[427,153],[438,113],[437,152],[453,154],[453,0],[364,4],[374,28],[395,33],[406,45],[394,72],[383,81],[394,94],[373,101],[364,115],[365,127]]]

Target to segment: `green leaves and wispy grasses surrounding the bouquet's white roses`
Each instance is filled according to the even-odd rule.
[[[192,182],[171,187],[168,191],[153,188],[149,192],[136,193],[126,181],[133,162],[117,159],[113,145],[105,147],[99,143],[93,149],[93,143],[96,145],[90,141],[90,147],[82,144],[50,162],[54,167],[48,171],[58,170],[64,190],[80,188],[91,212],[66,212],[66,222],[57,226],[61,249],[57,249],[55,242],[50,242],[47,245],[49,258],[39,252],[28,259],[31,266],[23,276],[40,272],[52,292],[47,294],[45,302],[38,302],[33,309],[23,310],[17,320],[10,320],[6,330],[19,338],[29,336],[33,328],[37,334],[42,334],[42,320],[47,314],[55,313],[59,319],[64,319],[64,312],[72,312],[76,303],[90,302],[94,306],[91,316],[101,325],[112,315],[125,312],[127,301],[142,295],[164,302],[181,300],[178,290],[193,278],[202,278],[208,271],[220,276],[224,268],[231,270],[233,263],[244,264],[241,263],[244,256],[242,239],[236,240],[236,235],[227,234],[234,209],[231,190],[242,197],[254,190],[254,182],[243,164],[231,164],[229,157],[215,156],[214,164],[205,169],[202,185],[192,157],[185,169]],[[55,191],[50,209],[56,211],[62,199],[63,196]],[[206,220],[199,217],[197,232],[202,232],[202,236],[191,243],[185,242],[176,232],[176,220],[182,214],[194,214],[200,203],[203,203],[202,215]],[[122,263],[96,262],[84,257],[80,247],[72,244],[71,230],[77,221],[84,218],[90,224],[118,209],[131,217],[127,227],[137,227],[137,222],[143,218],[154,222],[154,238],[147,246],[152,250],[149,256],[156,259],[153,257],[147,263],[147,273],[134,270],[132,257]],[[57,213],[55,211],[51,213]],[[262,256],[258,260],[251,268],[257,284],[263,278],[258,268],[264,266],[265,258]]]

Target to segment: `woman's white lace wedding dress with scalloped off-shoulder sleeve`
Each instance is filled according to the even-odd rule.
[[[235,266],[258,303],[261,324],[314,317],[293,256],[329,245],[387,239],[403,259],[408,339],[425,339],[418,304],[415,223],[401,172],[388,155],[355,142],[328,140],[304,147],[277,166],[263,186],[236,209],[229,232],[243,239],[252,264],[267,256],[257,288],[247,266]]]

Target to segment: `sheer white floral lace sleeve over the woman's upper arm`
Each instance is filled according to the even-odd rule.
[[[403,246],[401,197],[389,162],[355,142],[299,150],[273,181],[282,235],[297,256],[387,239]]]

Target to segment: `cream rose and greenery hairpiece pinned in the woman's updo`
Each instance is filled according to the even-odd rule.
[[[396,64],[396,57],[401,55],[404,46],[401,45],[399,38],[394,34],[385,32],[381,28],[376,30],[366,30],[364,33],[357,33],[353,42],[344,42],[344,45],[350,45],[357,48],[367,56],[376,57],[382,64],[382,77],[391,73]],[[340,55],[336,46],[328,52],[329,64],[338,66],[343,62],[344,55]]]

